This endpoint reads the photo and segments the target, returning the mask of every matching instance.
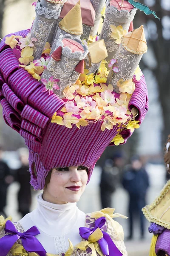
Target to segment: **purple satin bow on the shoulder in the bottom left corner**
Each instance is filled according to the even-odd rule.
[[[6,221],[5,231],[10,234],[0,239],[0,256],[6,256],[18,239],[21,239],[24,249],[29,253],[34,252],[38,253],[40,256],[45,256],[45,249],[38,239],[34,237],[40,234],[36,226],[31,227],[24,233],[20,233],[16,230],[14,224],[8,220]]]

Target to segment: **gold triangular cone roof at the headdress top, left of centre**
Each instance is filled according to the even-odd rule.
[[[82,35],[83,28],[80,1],[60,21],[59,27],[69,34]]]

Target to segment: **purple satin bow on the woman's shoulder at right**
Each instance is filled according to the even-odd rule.
[[[101,228],[105,225],[106,218],[101,217],[98,218],[95,221],[95,227],[89,228],[89,227],[80,227],[79,228],[79,234],[82,238],[85,240],[88,240],[89,236],[99,227]],[[101,230],[102,231],[102,230]],[[116,247],[116,245],[113,243],[111,237],[109,236],[108,233],[102,231],[103,233],[103,238],[99,239],[97,241],[100,245],[100,248],[102,250],[102,253],[106,256],[122,256],[123,254],[119,251],[119,249]]]

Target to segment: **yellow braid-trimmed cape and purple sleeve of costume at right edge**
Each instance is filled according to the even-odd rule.
[[[152,204],[142,209],[153,233],[150,256],[170,255],[170,180]]]

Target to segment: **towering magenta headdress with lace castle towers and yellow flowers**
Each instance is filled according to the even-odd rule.
[[[130,32],[130,1],[38,0],[31,29],[1,41],[3,117],[25,139],[34,189],[55,167],[86,166],[89,180],[105,148],[143,121],[147,45],[143,26]]]

